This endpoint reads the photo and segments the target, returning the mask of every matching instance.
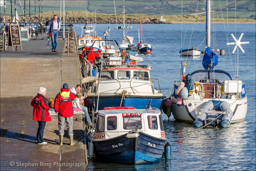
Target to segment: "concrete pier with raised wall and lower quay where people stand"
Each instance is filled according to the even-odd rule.
[[[74,115],[74,142],[69,146],[67,128],[63,146],[58,140],[58,115],[46,122],[45,145],[36,143],[37,121],[33,121],[31,100],[39,87],[47,89],[47,100],[55,98],[63,83],[78,84],[79,61],[74,39],[67,55],[67,39],[59,39],[57,51],[46,46],[46,33],[22,41],[22,51],[1,52],[1,170],[85,170],[84,116]]]

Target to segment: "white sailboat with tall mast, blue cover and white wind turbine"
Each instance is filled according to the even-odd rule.
[[[202,62],[204,70],[196,70],[186,76],[181,73],[182,80],[174,82],[174,91],[171,98],[168,99],[171,100],[171,107],[168,108],[174,119],[193,122],[194,127],[219,126],[226,128],[231,123],[244,121],[247,112],[245,83],[238,80],[238,70],[234,80],[228,72],[214,68],[218,64],[218,56],[211,50],[211,1],[207,0],[206,4],[207,36]],[[234,38],[236,42],[228,45],[241,47],[241,38],[239,38],[239,42]],[[186,68],[186,64],[184,67]],[[166,105],[164,108],[166,111]]]

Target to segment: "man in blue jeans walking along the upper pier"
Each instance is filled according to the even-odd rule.
[[[58,35],[60,31],[60,19],[58,19],[57,15],[53,16],[53,19],[49,22],[49,28],[47,30],[47,35],[51,33],[51,39],[52,39],[52,52],[57,52],[57,44],[58,44]]]

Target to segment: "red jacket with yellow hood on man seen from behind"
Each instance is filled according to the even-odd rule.
[[[55,112],[63,117],[73,116],[72,100],[75,100],[75,98],[76,96],[69,89],[61,89],[60,93],[55,97]]]

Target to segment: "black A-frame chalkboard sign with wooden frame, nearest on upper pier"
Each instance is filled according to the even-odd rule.
[[[14,51],[13,46],[20,46],[20,49],[22,50],[21,46],[21,40],[20,40],[20,27],[19,24],[10,24],[9,25],[9,33],[8,33],[8,47],[12,46],[12,51]],[[7,47],[7,50],[8,50]]]

